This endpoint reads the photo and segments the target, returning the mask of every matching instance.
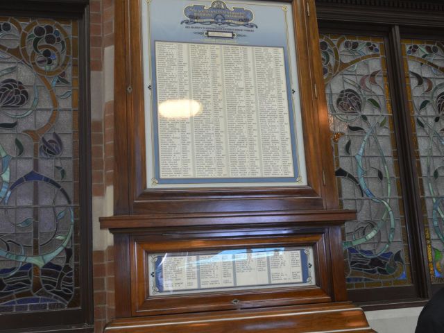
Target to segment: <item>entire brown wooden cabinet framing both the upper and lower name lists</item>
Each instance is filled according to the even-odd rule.
[[[116,2],[116,215],[101,219],[101,228],[114,234],[117,319],[105,332],[373,332],[345,292],[341,225],[355,212],[338,209],[314,1],[288,3],[282,10],[291,8],[294,22],[306,185],[155,189],[146,186],[145,5]],[[311,249],[313,284],[150,291],[153,253],[298,246]]]

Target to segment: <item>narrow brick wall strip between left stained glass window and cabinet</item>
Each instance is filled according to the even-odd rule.
[[[103,332],[114,318],[113,247],[106,232],[99,230],[99,216],[111,206],[114,169],[114,0],[90,1],[90,50],[92,94],[92,196],[95,332]],[[112,198],[112,195],[111,195]],[[95,206],[95,207],[94,207]],[[105,239],[105,240],[103,240]]]

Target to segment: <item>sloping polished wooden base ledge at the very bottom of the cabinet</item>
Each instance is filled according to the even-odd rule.
[[[375,332],[350,302],[115,319],[105,333]]]

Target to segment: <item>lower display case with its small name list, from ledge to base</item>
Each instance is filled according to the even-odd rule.
[[[373,332],[345,292],[354,212],[305,213],[101,219],[116,283],[105,332]]]

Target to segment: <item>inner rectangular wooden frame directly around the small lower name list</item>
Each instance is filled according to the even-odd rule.
[[[171,239],[170,237],[140,237],[131,238],[135,246],[131,246],[131,280],[132,297],[137,299],[133,302],[133,316],[151,316],[164,313],[181,313],[222,309],[248,309],[249,307],[265,307],[277,305],[294,305],[307,302],[330,302],[332,298],[328,295],[331,289],[327,282],[327,262],[325,253],[325,230],[314,230],[309,235],[289,236],[289,234],[280,234],[283,230],[275,230],[275,235],[256,237],[223,237],[223,232],[205,235],[189,234],[186,240]],[[316,234],[315,234],[316,232]],[[200,238],[202,237],[202,238]],[[198,244],[196,244],[198,243]],[[234,248],[264,246],[312,246],[314,250],[314,266],[316,275],[316,286],[310,287],[286,287],[286,288],[268,288],[258,290],[244,291],[223,291],[207,293],[205,297],[202,294],[178,295],[175,297],[155,297],[149,296],[148,273],[145,267],[147,255],[151,252],[173,252],[180,249],[193,250],[229,250]],[[144,269],[140,269],[140,268]],[[291,293],[291,298],[288,294]],[[232,302],[232,300],[238,302]],[[184,307],[184,304],[188,304]],[[165,310],[168,309],[168,310]]]

